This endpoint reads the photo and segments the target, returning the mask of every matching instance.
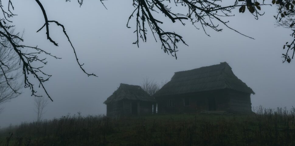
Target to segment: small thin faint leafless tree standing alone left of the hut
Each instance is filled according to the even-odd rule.
[[[48,104],[47,98],[35,96],[34,97],[34,103],[35,103],[35,112],[37,113],[37,122],[40,122],[42,120],[42,116],[44,114],[44,108]]]

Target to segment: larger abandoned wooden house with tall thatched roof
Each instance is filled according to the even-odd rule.
[[[154,95],[158,113],[224,111],[251,112],[255,94],[226,63],[175,72],[171,81]]]

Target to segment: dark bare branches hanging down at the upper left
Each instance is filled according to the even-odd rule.
[[[45,23],[44,25],[37,31],[39,32],[43,27],[46,28],[46,35],[47,35],[47,39],[53,43],[55,46],[58,46],[58,44],[53,40],[51,39],[50,37],[50,30],[49,30],[49,23],[55,23],[57,24],[57,26],[61,26],[62,29],[63,29],[63,32],[64,32],[64,35],[67,37],[69,43],[71,44],[71,47],[74,51],[74,54],[75,54],[75,58],[76,58],[76,61],[79,65],[79,67],[82,69],[82,71],[88,75],[88,76],[96,76],[95,74],[89,74],[85,71],[85,69],[82,67],[83,64],[81,64],[79,61],[78,61],[78,57],[77,57],[77,54],[76,54],[76,51],[75,51],[75,48],[68,36],[68,34],[66,33],[65,31],[65,28],[64,26],[57,22],[57,21],[49,21],[48,18],[47,18],[47,14],[46,14],[46,11],[42,5],[42,3],[39,1],[39,0],[35,0],[36,3],[39,5],[42,13],[43,13],[43,17],[44,17],[44,20],[45,20]],[[66,2],[69,1],[69,0],[66,0]],[[78,2],[80,4],[80,6],[82,5],[83,1],[79,1]],[[2,10],[2,14],[3,14],[3,18],[1,19],[0,18],[0,44],[3,46],[3,47],[7,47],[5,46],[5,43],[3,43],[4,41],[8,41],[13,50],[15,51],[15,53],[18,55],[19,57],[19,64],[22,64],[23,65],[23,75],[24,75],[24,87],[25,88],[29,88],[31,90],[31,95],[32,96],[37,96],[37,97],[41,97],[40,95],[36,95],[36,90],[35,90],[35,85],[32,83],[31,81],[31,78],[29,76],[33,76],[34,78],[37,79],[38,83],[39,83],[39,88],[42,88],[43,91],[45,92],[45,94],[48,96],[48,98],[52,100],[52,98],[50,97],[49,93],[47,92],[45,86],[44,86],[44,82],[48,81],[49,78],[52,76],[52,75],[48,75],[47,73],[43,72],[42,71],[42,68],[44,67],[44,65],[47,64],[47,61],[46,61],[46,58],[40,58],[40,54],[45,54],[45,55],[48,55],[50,57],[54,57],[55,59],[61,59],[61,58],[58,58],[46,51],[44,51],[43,49],[41,48],[38,48],[37,46],[36,47],[31,47],[31,46],[26,46],[26,45],[21,45],[19,44],[19,42],[23,42],[23,39],[21,37],[19,37],[19,33],[17,34],[12,34],[9,32],[9,29],[12,29],[14,26],[12,25],[8,25],[5,21],[8,21],[9,23],[12,23],[11,20],[9,20],[8,18],[10,17],[13,17],[13,16],[16,16],[15,14],[12,13],[11,9],[14,9],[13,7],[13,4],[11,2],[11,0],[9,0],[8,2],[8,10],[6,11],[5,10],[5,7],[2,5],[2,0],[0,0],[0,9]],[[29,52],[29,53],[26,53],[26,52]],[[33,65],[34,64],[34,65]],[[43,64],[43,66],[39,66],[39,67],[36,67],[36,64]],[[2,74],[4,75],[5,79],[6,79],[6,84],[15,92],[15,93],[18,93],[16,89],[14,89],[12,86],[11,86],[11,83],[9,82],[10,79],[12,78],[9,78],[3,67],[6,67],[8,68],[8,66],[2,62],[2,60],[0,60],[0,69],[1,69],[1,72]]]

